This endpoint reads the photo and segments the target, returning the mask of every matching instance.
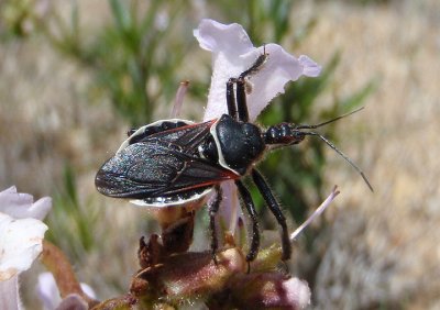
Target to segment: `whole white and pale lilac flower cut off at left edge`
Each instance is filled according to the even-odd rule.
[[[41,220],[51,208],[48,197],[33,202],[15,187],[0,192],[0,309],[21,309],[18,275],[43,251],[47,226]]]

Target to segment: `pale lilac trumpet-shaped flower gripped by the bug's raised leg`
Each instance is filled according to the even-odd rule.
[[[251,122],[272,99],[284,93],[284,86],[288,81],[295,81],[300,76],[316,77],[321,70],[309,57],[301,55],[296,58],[277,44],[254,47],[244,29],[237,23],[226,25],[213,20],[202,20],[194,35],[201,48],[212,53],[213,71],[204,121],[228,113],[227,81],[249,69],[263,53],[268,54],[267,60],[251,76],[252,91],[246,96]],[[221,218],[230,224],[229,230],[233,232],[237,221],[229,220],[237,219],[237,212],[240,212],[237,188],[233,181],[226,181],[222,190],[227,199],[221,202]]]

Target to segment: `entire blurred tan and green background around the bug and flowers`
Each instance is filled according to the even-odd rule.
[[[180,117],[201,120],[210,55],[193,30],[212,18],[323,66],[319,78],[288,85],[262,125],[365,107],[320,132],[362,167],[374,193],[318,140],[260,165],[292,229],[340,187],[290,261],[312,308],[440,308],[439,1],[0,0],[0,189],[54,198],[47,236],[99,299],[128,290],[139,237],[157,226],[145,210],[100,196],[95,174],[129,129],[168,118],[183,80]],[[276,230],[253,197],[264,229]],[[194,248],[206,250],[206,210],[197,219]],[[34,284],[33,272],[24,275],[25,302]]]

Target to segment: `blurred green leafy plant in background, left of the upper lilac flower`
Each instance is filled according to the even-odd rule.
[[[89,67],[98,87],[111,98],[116,112],[138,126],[174,98],[180,80],[176,70],[191,34],[180,26],[185,2],[109,0],[111,22],[87,43],[73,7],[68,24],[55,19],[59,33],[44,33],[53,45]],[[89,35],[88,35],[89,36]]]

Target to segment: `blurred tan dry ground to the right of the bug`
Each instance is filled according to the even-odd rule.
[[[365,309],[387,300],[391,308],[439,309],[440,3],[359,10],[332,2],[314,11],[319,24],[310,48],[343,51],[337,91],[381,80],[365,111],[340,132],[375,193],[342,176],[346,169],[328,174],[342,195],[330,211],[336,224],[317,280],[319,306]]]

